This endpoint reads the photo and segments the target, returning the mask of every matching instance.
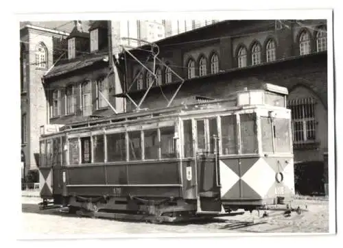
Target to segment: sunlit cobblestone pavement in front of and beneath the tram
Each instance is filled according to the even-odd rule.
[[[58,210],[39,210],[37,198],[23,197],[23,231],[25,234],[145,234],[145,233],[251,233],[251,232],[329,232],[328,201],[297,200],[307,210],[283,216],[271,211],[261,218],[257,212],[225,216],[211,221],[158,225],[152,223],[89,219],[60,214]],[[263,213],[263,212],[262,212]]]

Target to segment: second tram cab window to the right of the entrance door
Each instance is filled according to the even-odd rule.
[[[241,114],[241,153],[257,153],[255,114]]]

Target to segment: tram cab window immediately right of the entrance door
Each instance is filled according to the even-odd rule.
[[[237,121],[235,115],[222,117],[223,154],[237,154]]]

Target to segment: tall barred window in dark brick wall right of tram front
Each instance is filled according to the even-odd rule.
[[[287,108],[292,111],[292,132],[295,145],[316,141],[316,101],[313,98],[291,99]]]

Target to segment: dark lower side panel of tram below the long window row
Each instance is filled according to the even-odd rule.
[[[178,161],[64,168],[68,195],[182,197]]]

